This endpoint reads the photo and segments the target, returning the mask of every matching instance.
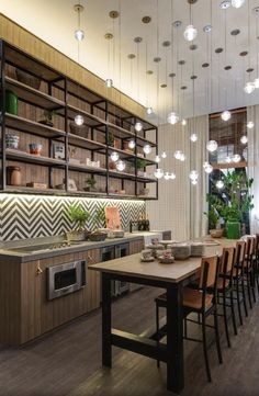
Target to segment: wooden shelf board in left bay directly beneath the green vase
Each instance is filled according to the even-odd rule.
[[[40,124],[35,121],[23,118],[18,115],[13,115],[9,113],[5,114],[5,125],[7,127],[16,131],[31,133],[43,137],[55,138],[55,137],[64,137],[66,135],[64,131],[44,124]]]

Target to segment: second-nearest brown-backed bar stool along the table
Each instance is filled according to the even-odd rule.
[[[218,293],[218,297],[222,297],[222,303],[219,301],[218,304],[223,305],[225,332],[226,332],[227,344],[229,348],[232,344],[230,344],[228,320],[227,320],[228,307],[230,308],[232,312],[234,332],[235,335],[237,335],[237,325],[236,325],[234,295],[233,295],[234,264],[235,264],[235,248],[223,248],[221,267],[219,267],[219,278],[217,280],[217,293]],[[227,303],[227,298],[229,298],[229,304]]]

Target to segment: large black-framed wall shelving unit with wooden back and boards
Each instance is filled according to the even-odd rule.
[[[4,109],[0,109],[3,114],[0,120],[2,129],[0,144],[3,147],[0,158],[2,192],[114,197],[120,200],[155,199],[148,195],[138,196],[135,194],[138,189],[142,192],[140,188],[145,188],[148,183],[158,183],[155,178],[136,174],[136,168],[139,168],[138,159],[144,160],[146,167],[157,168],[157,163],[153,159],[137,154],[138,151],[140,154],[143,146],[148,144],[154,148],[155,158],[158,152],[158,136],[155,125],[3,41],[2,46],[0,46],[0,58],[3,60],[0,64],[0,71],[4,76],[2,81],[3,91],[10,90],[19,98],[19,115],[4,113]],[[40,78],[40,89],[16,80],[14,77],[15,68]],[[30,82],[30,80],[27,81]],[[37,120],[44,110],[55,111],[57,115],[53,120],[55,126],[52,127],[33,121]],[[78,114],[82,115],[85,120],[81,131],[80,128],[76,131],[70,127]],[[143,124],[143,131],[139,133],[134,128],[136,122]],[[5,135],[10,133],[10,129],[11,133],[15,134],[16,132],[19,135],[20,150],[4,149]],[[106,139],[110,139],[110,135],[113,135],[117,140],[114,145],[120,148],[108,145]],[[131,139],[136,143],[136,148],[132,151],[126,149],[127,145],[125,144]],[[42,144],[44,156],[27,152],[31,143]],[[125,149],[123,149],[124,147]],[[120,158],[126,162],[126,171],[120,172],[109,169],[109,157],[112,151],[116,151]],[[58,156],[61,159],[52,158]],[[69,162],[69,156],[75,158],[75,161]],[[87,158],[90,161],[100,161],[102,168],[80,163],[87,161]],[[16,188],[4,184],[7,182],[5,176],[8,174],[9,161],[15,162],[18,167],[20,166],[24,186]],[[88,163],[91,162],[88,161]],[[77,188],[80,189],[79,191],[64,189],[64,180],[68,184],[69,178],[74,180]],[[97,190],[100,191],[83,191],[86,178],[94,179]],[[46,185],[60,185],[64,190],[29,188],[25,186],[27,180],[42,180]],[[110,190],[125,191],[126,194],[110,193]]]

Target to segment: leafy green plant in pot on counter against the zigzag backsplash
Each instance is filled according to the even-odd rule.
[[[75,224],[74,230],[67,233],[67,239],[85,240],[87,236],[86,223],[90,218],[89,212],[85,211],[80,205],[70,205],[67,215]]]

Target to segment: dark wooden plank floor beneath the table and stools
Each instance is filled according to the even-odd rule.
[[[116,301],[113,326],[140,333],[155,324],[154,296],[145,288]],[[196,330],[191,329],[196,332]],[[212,330],[209,329],[209,333]],[[187,341],[183,396],[258,396],[259,303],[249,310],[238,336],[226,347],[222,330],[224,364],[210,348],[213,383],[206,382],[202,344]],[[101,312],[66,326],[22,349],[0,349],[1,396],[168,396],[166,366],[119,349],[113,369],[101,366]]]

